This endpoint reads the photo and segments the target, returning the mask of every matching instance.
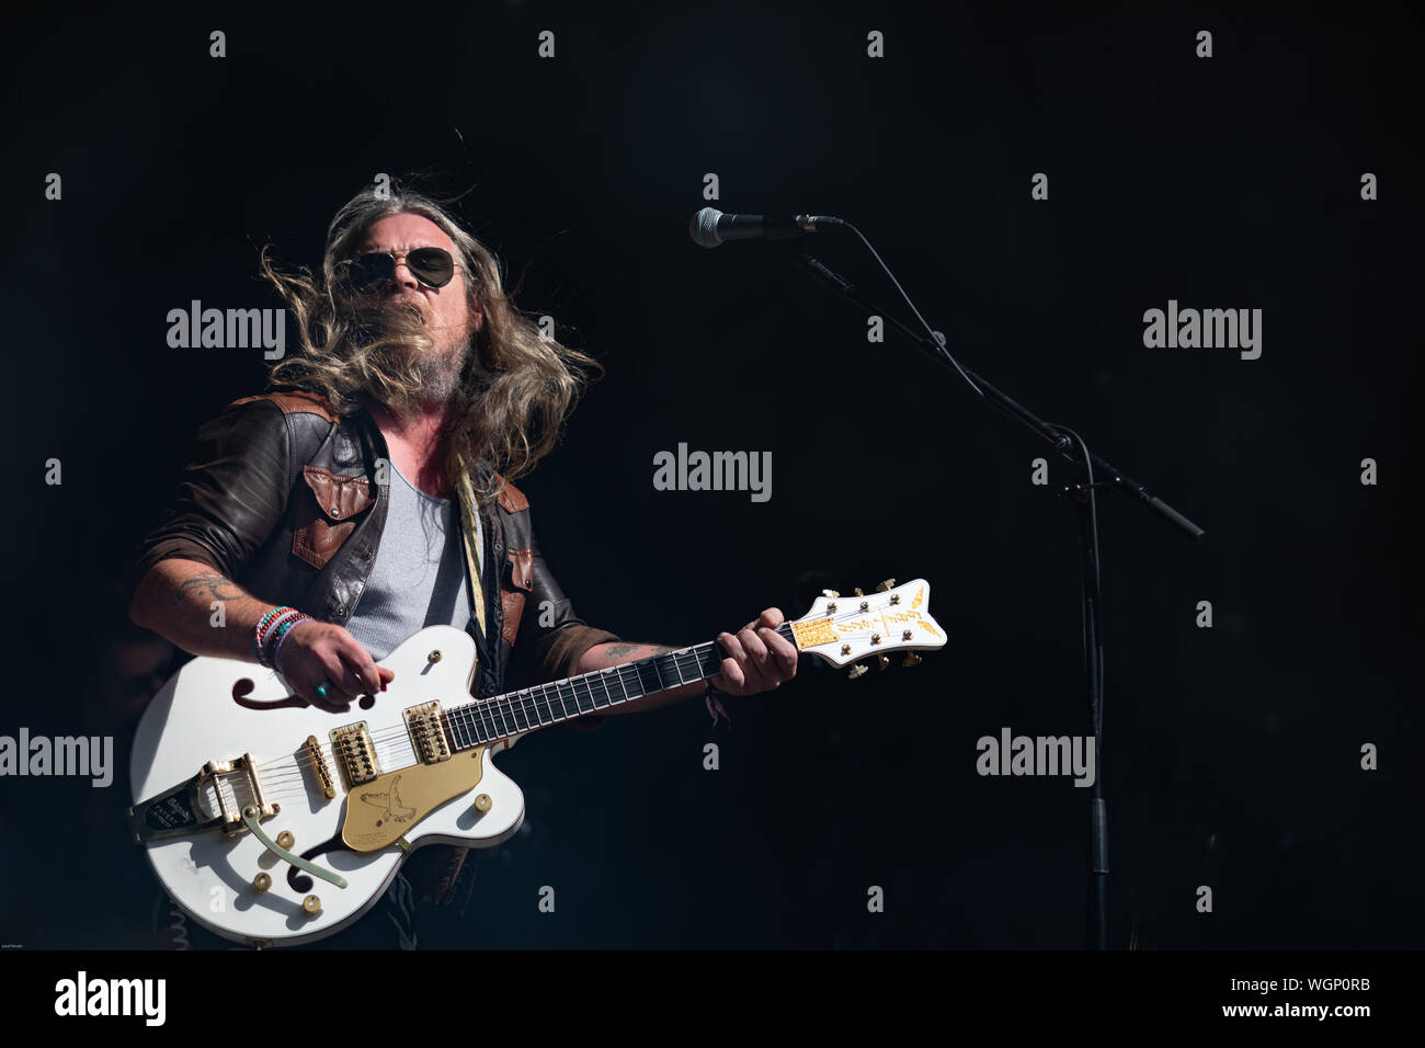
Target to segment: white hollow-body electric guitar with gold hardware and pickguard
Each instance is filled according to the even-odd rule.
[[[778,633],[845,666],[945,644],[916,579],[825,590]],[[524,796],[490,757],[524,734],[718,673],[715,643],[475,700],[475,642],[420,630],[380,662],[388,690],[326,713],[256,663],[198,657],[157,694],[134,739],[128,826],[174,901],[218,935],[294,945],[366,913],[412,848],[493,847]],[[851,676],[866,672],[858,664]]]

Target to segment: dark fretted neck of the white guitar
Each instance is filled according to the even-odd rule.
[[[791,623],[784,622],[777,627],[777,633],[797,643]],[[725,657],[711,640],[705,644],[680,647],[638,662],[620,663],[577,677],[456,706],[446,710],[446,724],[455,749],[484,746],[537,727],[606,713],[623,703],[707,680],[718,673]]]

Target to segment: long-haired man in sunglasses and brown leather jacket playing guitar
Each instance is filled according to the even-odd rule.
[[[332,220],[319,275],[279,274],[265,251],[262,269],[301,348],[268,392],[198,431],[177,505],[135,552],[134,623],[192,654],[256,657],[332,711],[383,689],[395,674],[376,663],[425,626],[475,639],[477,697],[671,650],[589,626],[549,573],[510,479],[553,448],[597,365],[520,315],[494,257],[439,201],[363,191]],[[791,679],[782,620],[771,607],[721,633],[711,683],[754,694]],[[403,873],[449,904],[463,858],[432,846]],[[390,893],[406,918],[410,893],[405,877]],[[358,941],[362,924],[328,944]]]

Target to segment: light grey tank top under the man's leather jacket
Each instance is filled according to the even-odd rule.
[[[395,463],[390,472],[376,560],[346,623],[376,662],[426,626],[466,629],[470,622],[459,505],[419,490]]]

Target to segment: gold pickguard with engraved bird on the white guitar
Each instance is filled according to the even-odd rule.
[[[456,753],[439,764],[388,771],[346,794],[342,841],[352,851],[380,851],[408,836],[452,797],[472,790],[484,774],[484,747]]]

